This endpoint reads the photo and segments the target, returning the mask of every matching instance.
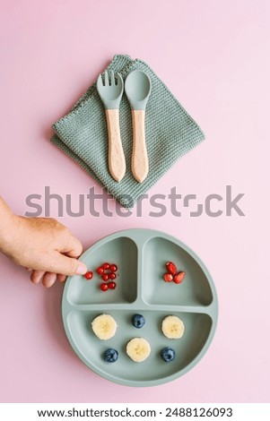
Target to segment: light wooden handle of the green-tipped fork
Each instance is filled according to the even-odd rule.
[[[109,172],[119,182],[126,173],[126,161],[120,136],[119,110],[106,109],[106,118],[109,133]]]

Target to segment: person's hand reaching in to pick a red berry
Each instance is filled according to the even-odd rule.
[[[0,252],[30,271],[30,280],[49,288],[67,275],[83,275],[87,268],[77,260],[81,242],[52,218],[25,218],[13,214],[0,197]]]

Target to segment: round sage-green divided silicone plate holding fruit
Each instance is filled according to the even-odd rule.
[[[218,304],[213,280],[203,262],[177,238],[150,229],[128,229],[101,239],[80,259],[90,271],[103,262],[117,263],[117,288],[100,290],[98,274],[86,280],[69,277],[65,282],[62,316],[65,333],[84,364],[111,382],[128,386],[153,386],[187,373],[204,356],[215,331]],[[165,263],[175,262],[186,272],[181,284],[164,282]],[[98,339],[91,322],[99,314],[110,314],[118,323],[116,335]],[[131,318],[143,314],[142,329]],[[177,315],[185,324],[181,339],[168,339],[161,331],[166,315]],[[142,337],[151,345],[150,356],[135,363],[126,355],[126,343]],[[161,348],[171,347],[176,357],[166,363]],[[107,363],[107,348],[118,350],[118,361]]]

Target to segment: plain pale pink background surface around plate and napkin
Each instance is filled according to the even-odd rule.
[[[157,219],[145,203],[143,218],[60,219],[84,248],[119,229],[161,229],[211,271],[220,302],[213,344],[188,374],[154,388],[92,373],[65,338],[63,287],[32,285],[1,255],[1,401],[269,402],[269,12],[263,0],[1,1],[0,180],[13,211],[24,214],[26,196],[45,185],[74,203],[92,185],[100,192],[50,144],[50,127],[125,53],[150,64],[206,134],[150,193],[176,185],[203,200],[232,185],[245,193],[246,214]]]

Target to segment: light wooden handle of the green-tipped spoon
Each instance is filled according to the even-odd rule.
[[[144,179],[148,174],[148,156],[145,142],[144,119],[145,111],[143,109],[132,110],[132,174],[139,183],[143,183]]]

